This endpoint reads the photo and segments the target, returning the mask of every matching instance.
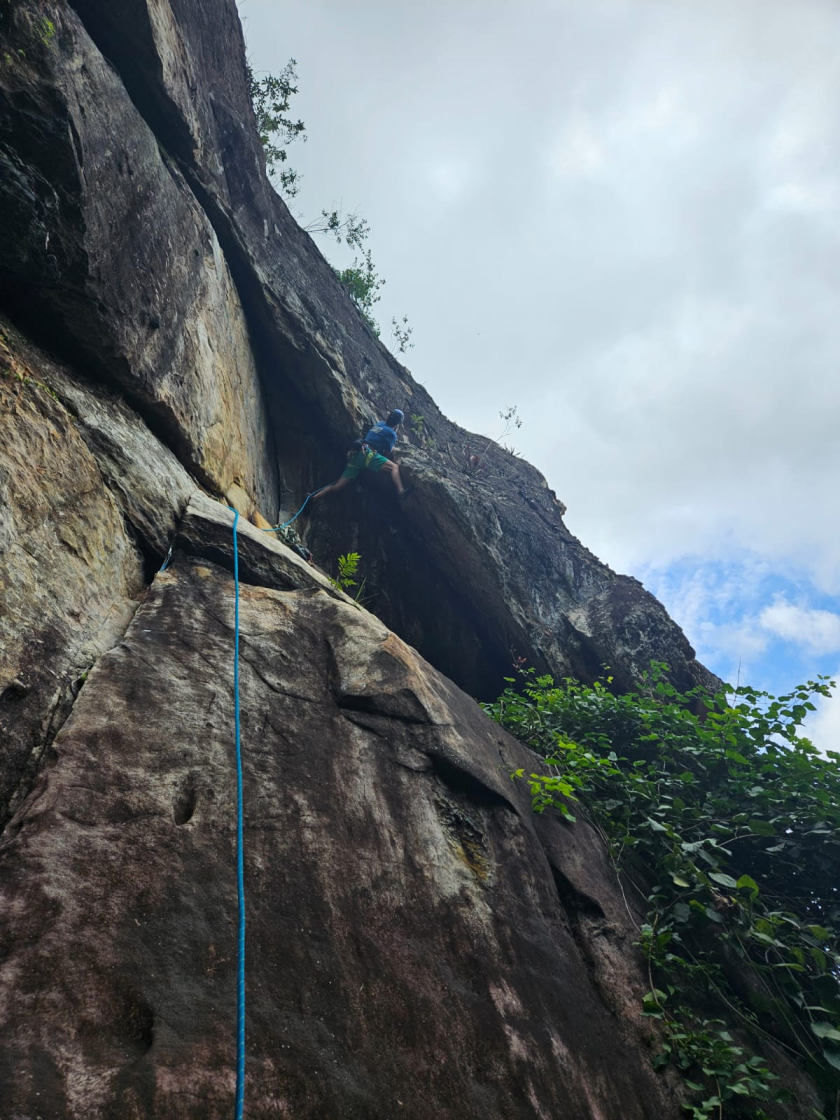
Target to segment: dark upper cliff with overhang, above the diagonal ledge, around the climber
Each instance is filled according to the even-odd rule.
[[[568,532],[533,467],[493,446],[469,468],[486,441],[373,336],[265,180],[233,0],[20,0],[6,21],[27,50],[0,75],[0,200],[16,233],[0,282],[19,316],[48,312],[47,342],[90,355],[190,473],[270,517],[269,463],[293,510],[373,419],[394,404],[421,414],[422,446],[410,436],[402,451],[411,507],[360,486],[316,507],[308,543],[325,563],[361,552],[372,608],[473,694],[497,694],[512,651],[559,675],[608,664],[619,687],[652,656],[683,687],[710,681],[655,599]]]

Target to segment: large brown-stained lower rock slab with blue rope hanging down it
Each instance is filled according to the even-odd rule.
[[[248,1114],[676,1117],[508,780],[528,752],[301,571],[242,587]],[[176,553],[7,829],[10,1116],[230,1114],[232,653],[230,575]],[[586,893],[573,867],[566,889],[601,914],[612,984],[638,989],[592,842]]]

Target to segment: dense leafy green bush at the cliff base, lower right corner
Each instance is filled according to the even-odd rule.
[[[531,671],[486,710],[545,756],[544,772],[514,775],[534,810],[592,823],[643,900],[655,1064],[681,1071],[694,1120],[725,1105],[760,1117],[775,1079],[738,1027],[840,1084],[840,754],[799,734],[833,682],[682,694],[666,672],[653,663],[638,692],[615,696],[610,678]],[[720,1017],[698,1010],[710,1000]]]

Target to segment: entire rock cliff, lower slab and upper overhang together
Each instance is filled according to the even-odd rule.
[[[233,0],[0,3],[0,1117],[231,1112],[231,505],[246,1114],[682,1114],[599,838],[460,688],[713,679],[371,334],[268,184]],[[374,617],[244,517],[392,405],[414,493],[302,530]]]

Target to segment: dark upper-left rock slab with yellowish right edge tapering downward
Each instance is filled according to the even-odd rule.
[[[202,482],[272,508],[272,437],[212,225],[72,8],[19,2],[3,24],[3,302],[119,384]]]

